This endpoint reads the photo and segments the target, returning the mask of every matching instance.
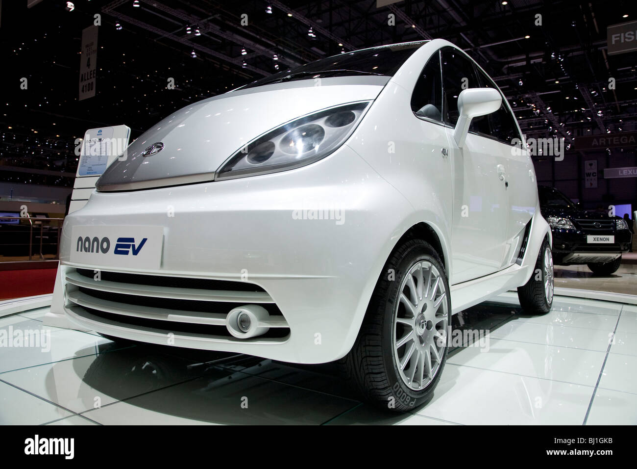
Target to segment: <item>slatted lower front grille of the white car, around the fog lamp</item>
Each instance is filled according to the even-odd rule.
[[[243,341],[280,341],[290,329],[280,309],[258,285],[242,281],[183,278],[69,269],[67,308],[78,316],[165,334],[233,339],[225,327],[231,309],[258,304],[268,311],[269,331]]]

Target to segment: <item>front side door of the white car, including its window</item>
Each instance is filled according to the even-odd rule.
[[[450,142],[452,195],[452,283],[493,272],[505,265],[508,200],[501,175],[503,151],[489,135],[488,116],[471,121],[462,148],[455,144],[457,100],[463,89],[480,87],[473,61],[453,47],[441,50],[443,121]]]

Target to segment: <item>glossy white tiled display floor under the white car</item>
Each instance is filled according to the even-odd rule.
[[[46,312],[0,318],[0,334],[45,339],[0,346],[1,424],[637,424],[634,305],[556,297],[525,316],[507,293],[464,311],[433,399],[406,414],[361,403],[326,366],[121,345]]]

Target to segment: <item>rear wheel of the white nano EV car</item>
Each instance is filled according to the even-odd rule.
[[[542,242],[533,274],[526,285],[518,287],[520,306],[527,314],[543,315],[553,305],[554,276],[553,255],[548,240]]]

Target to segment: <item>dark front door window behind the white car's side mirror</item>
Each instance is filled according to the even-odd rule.
[[[445,123],[455,126],[458,121],[458,96],[463,89],[479,88],[480,82],[471,60],[451,47],[442,49],[442,76]],[[469,132],[489,135],[487,117],[483,115],[472,119]]]

